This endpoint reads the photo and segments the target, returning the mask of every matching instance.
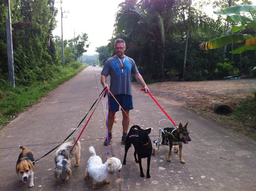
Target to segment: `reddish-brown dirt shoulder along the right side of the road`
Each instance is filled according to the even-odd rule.
[[[249,119],[254,120],[255,123],[244,125],[244,123],[230,118],[232,114],[218,115],[213,111],[214,101],[223,102],[235,110],[241,100],[254,98],[256,78],[188,82],[168,81],[147,85],[154,96],[159,96],[173,104],[182,104],[243,134],[251,137],[256,135],[255,118]]]

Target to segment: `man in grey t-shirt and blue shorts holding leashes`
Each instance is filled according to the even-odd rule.
[[[124,111],[129,116],[129,111],[133,109],[132,105],[132,91],[131,91],[131,74],[135,77],[137,82],[144,88],[144,92],[149,91],[146,83],[140,75],[137,66],[132,58],[124,55],[126,49],[125,42],[123,39],[117,39],[114,42],[114,49],[116,55],[109,58],[101,72],[101,84],[105,88],[109,88],[106,84],[106,78],[110,75],[110,91],[114,97],[121,104]],[[110,110],[108,113],[108,140],[104,141],[104,145],[109,145],[112,141],[112,127],[113,127],[113,116],[119,110],[119,105],[114,100],[113,96],[109,97]],[[121,143],[125,144],[127,131],[129,127],[129,118],[122,110],[123,115],[123,136]],[[113,115],[112,115],[113,114]]]

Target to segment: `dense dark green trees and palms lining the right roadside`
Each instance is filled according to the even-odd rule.
[[[125,55],[135,60],[147,83],[215,80],[243,75],[243,72],[252,71],[256,66],[255,47],[246,49],[243,46],[246,51],[241,50],[245,38],[250,38],[251,42],[255,39],[252,38],[256,34],[255,18],[254,14],[250,14],[255,13],[255,6],[238,9],[235,16],[228,18],[227,14],[222,16],[217,12],[219,16],[216,14],[217,19],[213,19],[213,13],[204,12],[207,5],[219,11],[238,4],[249,6],[252,2],[126,0],[119,4],[114,37],[108,45],[97,49],[99,61],[105,64],[106,59],[115,54],[115,39],[123,38],[126,42]],[[237,16],[239,10],[241,12]],[[239,19],[235,19],[237,17]],[[199,44],[226,34],[244,38],[232,43],[225,37],[225,41],[217,41],[220,48],[199,49]],[[226,47],[221,47],[223,44]],[[238,47],[241,51],[233,51]]]

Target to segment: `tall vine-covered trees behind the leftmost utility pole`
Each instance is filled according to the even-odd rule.
[[[11,0],[12,39],[15,84],[30,85],[35,79],[45,80],[54,72],[55,48],[52,30],[57,9],[52,0]],[[7,9],[0,4],[0,73],[8,77],[5,18]],[[49,64],[49,65],[48,65]]]

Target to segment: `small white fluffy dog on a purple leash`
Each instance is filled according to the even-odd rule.
[[[109,184],[107,179],[108,173],[113,174],[122,168],[121,161],[116,157],[109,158],[105,164],[102,163],[101,157],[97,156],[94,147],[89,148],[89,152],[92,156],[87,162],[87,167],[85,171],[85,180],[89,180],[90,177],[93,178],[93,189],[98,189],[98,183],[103,182],[103,184]]]

